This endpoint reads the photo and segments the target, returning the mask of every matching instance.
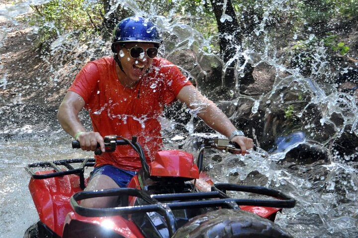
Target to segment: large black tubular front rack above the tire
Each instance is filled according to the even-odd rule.
[[[226,191],[242,191],[274,197],[276,199],[238,199],[231,198]],[[78,201],[103,196],[120,196],[121,207],[88,208],[78,204]],[[128,196],[143,199],[148,205],[128,206]],[[275,208],[292,208],[296,201],[274,189],[261,186],[246,186],[231,183],[216,183],[209,192],[187,192],[172,194],[150,194],[145,190],[135,188],[115,188],[100,191],[82,191],[71,197],[71,205],[76,213],[87,217],[104,217],[116,215],[129,215],[146,212],[158,212],[168,225],[170,236],[177,230],[175,216],[172,210],[190,208],[224,207],[240,209],[239,206],[265,206]]]

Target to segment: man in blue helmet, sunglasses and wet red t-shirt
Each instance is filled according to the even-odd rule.
[[[177,66],[156,58],[160,44],[152,22],[141,17],[123,19],[113,32],[114,57],[89,62],[76,76],[58,111],[61,126],[87,151],[94,151],[99,143],[104,152],[105,135],[136,135],[150,160],[162,145],[158,117],[164,105],[179,100],[197,110],[206,124],[236,142],[245,154],[253,140],[202,96]],[[78,113],[83,108],[89,111],[93,131],[86,131],[80,123]],[[86,190],[125,187],[141,168],[138,155],[129,146],[95,158]],[[82,205],[110,207],[116,199],[86,199]]]

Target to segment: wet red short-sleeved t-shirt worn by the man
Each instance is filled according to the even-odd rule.
[[[148,73],[130,89],[119,82],[115,64],[112,57],[89,62],[69,91],[85,100],[93,131],[129,139],[136,135],[150,161],[162,145],[158,117],[164,105],[171,104],[181,88],[191,83],[173,63],[155,58]],[[130,146],[117,146],[115,152],[95,158],[95,166],[109,164],[132,171],[141,168],[139,156]]]

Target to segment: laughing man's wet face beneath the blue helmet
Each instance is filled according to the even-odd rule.
[[[133,58],[130,55],[130,50],[133,47],[143,48],[144,52],[141,54],[137,54],[139,55],[138,58]],[[154,47],[153,43],[136,43],[136,42],[126,43],[124,47],[117,47],[118,59],[121,61],[123,71],[125,72],[130,82],[138,81],[152,64],[153,59],[147,56],[146,50],[148,48],[153,48],[153,47]],[[135,57],[137,57],[137,55],[133,54],[133,53],[138,53],[138,51],[136,52],[136,50],[138,49],[134,48],[132,50],[132,56],[134,55]]]

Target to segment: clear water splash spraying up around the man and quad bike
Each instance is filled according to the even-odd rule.
[[[36,1],[38,4],[45,2],[48,1]],[[88,1],[88,4],[91,2],[95,1]],[[287,4],[287,2],[287,0],[262,1],[260,4],[265,6],[264,11],[260,17],[258,17],[258,15],[254,16],[254,21],[258,23],[258,25],[255,27],[253,35],[243,39],[243,47],[235,48],[234,58],[226,63],[222,62],[222,60],[215,55],[216,49],[212,47],[212,39],[217,36],[211,35],[209,37],[204,37],[190,24],[183,23],[184,21],[182,19],[184,17],[191,22],[195,22],[194,20],[198,19],[196,16],[184,14],[184,12],[183,17],[178,17],[175,9],[173,9],[168,16],[162,16],[157,14],[155,6],[151,6],[150,11],[144,12],[139,6],[139,3],[142,3],[142,1],[118,0],[112,5],[112,8],[105,17],[108,18],[109,15],[121,5],[124,9],[136,12],[137,15],[147,15],[155,19],[160,31],[164,34],[168,34],[168,36],[164,38],[164,47],[161,49],[161,54],[167,58],[174,59],[176,54],[180,51],[185,50],[189,52],[191,54],[190,57],[193,60],[192,67],[182,66],[181,69],[187,73],[188,78],[193,78],[193,81],[197,83],[199,88],[204,84],[200,77],[202,77],[202,75],[206,77],[209,74],[209,68],[212,66],[211,64],[215,66],[219,65],[225,70],[229,67],[231,62],[235,60],[237,61],[237,59],[243,57],[245,62],[243,64],[237,63],[235,65],[235,85],[239,88],[240,78],[244,76],[246,65],[251,64],[253,66],[258,66],[266,63],[275,71],[273,87],[267,95],[263,95],[260,99],[251,97],[253,104],[249,111],[251,111],[252,114],[259,115],[262,112],[267,112],[265,115],[274,115],[275,112],[282,112],[284,110],[289,113],[289,106],[297,106],[293,107],[293,114],[295,114],[294,116],[296,116],[298,120],[293,120],[294,122],[292,124],[298,124],[300,129],[307,131],[306,135],[308,137],[314,138],[316,139],[316,142],[319,142],[318,147],[329,146],[330,142],[333,140],[339,140],[348,127],[351,127],[350,132],[357,136],[357,99],[353,96],[338,92],[335,88],[332,88],[332,86],[325,88],[324,84],[315,81],[316,78],[319,78],[322,75],[327,75],[326,69],[329,62],[326,58],[327,53],[325,48],[322,47],[322,45],[316,47],[315,54],[313,54],[313,63],[310,65],[311,73],[310,75],[305,76],[301,74],[298,68],[290,68],[287,65],[287,62],[285,62],[280,50],[276,49],[275,39],[272,39],[270,36],[269,24],[274,20],[273,16],[275,15],[275,11],[287,12],[292,10],[288,7],[289,4]],[[10,19],[16,25],[17,22],[13,19],[19,14],[28,12],[29,4],[32,3],[34,2],[22,1],[16,3],[14,6],[6,5],[3,7],[1,5],[0,15]],[[201,2],[202,5],[205,3],[204,0]],[[227,4],[227,1],[224,1],[224,4]],[[203,11],[202,5],[197,7],[197,10],[200,12]],[[259,7],[261,6],[257,3],[255,8]],[[261,20],[259,20],[259,18]],[[232,21],[232,18],[225,13],[224,7],[220,21],[224,22],[226,20]],[[48,26],[55,29],[51,22],[48,23]],[[6,35],[10,30],[10,28],[7,29],[4,27],[0,29],[0,42],[6,38]],[[33,32],[36,34],[38,28],[34,27]],[[47,64],[52,67],[53,75],[51,78],[54,83],[59,83],[61,75],[67,73],[62,72],[61,69],[63,68],[64,61],[66,61],[64,59],[66,59],[67,52],[69,51],[76,52],[77,56],[86,56],[82,58],[83,60],[81,59],[74,63],[74,68],[76,70],[90,59],[97,58],[98,56],[111,55],[110,43],[104,42],[99,37],[95,37],[93,38],[93,41],[88,44],[79,45],[79,42],[71,37],[76,34],[76,32],[67,32],[62,35],[58,33],[57,40],[51,45],[49,54],[56,55],[59,59],[59,67],[53,66],[53,62],[47,61]],[[232,36],[226,37],[227,39],[231,39]],[[302,41],[304,43],[309,44],[315,41],[316,35],[308,34],[307,36],[302,36],[299,32],[295,32],[292,35],[292,38],[294,40],[303,39]],[[121,57],[124,56],[124,54],[123,56],[122,54],[123,52],[120,53]],[[44,60],[46,60],[46,57],[44,57]],[[300,60],[303,61],[302,58]],[[343,67],[341,73],[347,71],[348,67]],[[5,89],[7,85],[11,85],[11,82],[8,82],[6,76],[3,76],[0,81],[0,86]],[[152,89],[154,89],[155,86],[152,86]],[[292,94],[290,94],[291,91],[298,92],[293,95],[296,96],[296,98],[289,98],[289,96],[292,96]],[[21,94],[18,94],[14,98],[13,103],[21,103],[21,96]],[[247,97],[250,98],[250,96]],[[233,103],[237,103],[237,101]],[[200,105],[198,106],[198,108],[200,108]],[[104,108],[95,113],[100,114],[103,110]],[[198,112],[200,112],[200,109],[186,111],[186,113],[190,115],[189,121],[182,124],[187,130],[185,132],[186,134],[190,135],[194,132],[196,126],[194,119],[196,119]],[[235,118],[235,115],[236,114],[234,114],[233,118]],[[122,119],[125,123],[128,119],[128,115],[122,115]],[[133,119],[139,121],[142,127],[145,126],[145,121],[147,120],[145,117]],[[288,116],[284,122],[287,120],[289,120]],[[162,124],[166,125],[163,126],[164,130],[170,131],[173,130],[178,123],[171,120],[164,120],[162,121]],[[267,119],[267,127],[271,129],[271,127],[273,127],[272,125],[272,121]],[[275,137],[278,137],[280,133],[285,134],[292,132],[291,129],[285,130],[283,123],[279,124],[278,127],[278,130],[275,132],[279,133],[276,133]],[[332,131],[330,131],[327,136],[322,136],[322,131],[328,127],[332,127]],[[18,128],[18,131],[22,132],[30,130],[32,130],[30,125]],[[268,132],[268,130],[265,130],[265,132]],[[34,142],[30,148],[33,148],[37,142],[38,141]],[[245,157],[226,156],[218,153],[218,155],[223,158],[222,161],[219,163],[217,161],[211,161],[208,168],[217,181],[231,181],[238,183],[255,181],[261,182],[262,185],[274,186],[289,192],[290,195],[297,199],[298,208],[292,213],[293,215],[291,216],[294,217],[292,220],[289,220],[289,215],[286,215],[287,219],[282,222],[283,224],[287,223],[287,221],[292,222],[291,224],[296,224],[297,221],[307,218],[311,219],[308,220],[310,223],[312,223],[312,221],[315,221],[316,223],[319,221],[318,219],[320,219],[324,226],[317,224],[317,227],[312,228],[315,229],[315,232],[311,234],[317,234],[317,236],[322,235],[321,237],[327,235],[322,231],[324,230],[324,227],[326,227],[329,232],[335,234],[344,233],[347,229],[356,230],[354,224],[357,222],[356,217],[358,214],[356,209],[358,183],[356,176],[357,170],[355,169],[357,168],[357,164],[355,163],[357,154],[346,154],[342,158],[332,151],[330,161],[319,161],[308,164],[300,164],[302,161],[285,161],[287,153],[298,148],[302,143],[297,143],[292,147],[286,147],[282,152],[271,154],[268,159],[263,159],[260,155],[255,155],[254,152],[252,152],[251,156]],[[9,152],[11,152],[11,148],[13,147],[10,147],[10,145],[6,145],[6,148],[1,150],[7,151],[7,154],[3,155],[4,157],[11,156]],[[36,153],[41,154],[42,152],[38,151]],[[47,154],[46,160],[48,157],[53,158],[55,155]],[[11,159],[8,161],[13,162]],[[13,174],[16,175],[16,172],[13,172]],[[26,180],[26,178],[24,178],[24,180]],[[8,188],[5,188],[5,190],[6,189]],[[15,186],[14,189],[14,191],[11,191],[12,193],[17,192],[15,195],[18,193],[21,194],[21,189],[19,187],[16,188]],[[2,193],[1,195],[6,196],[5,193]],[[3,200],[4,199],[1,201]],[[313,218],[317,218],[317,220],[314,220]],[[295,231],[295,234],[298,234],[299,237],[302,234],[302,231],[299,231],[298,227],[302,226],[302,224],[296,225],[297,226],[293,225],[291,229]],[[297,230],[295,230],[296,228]]]

